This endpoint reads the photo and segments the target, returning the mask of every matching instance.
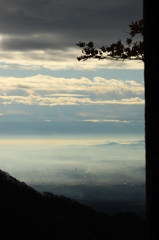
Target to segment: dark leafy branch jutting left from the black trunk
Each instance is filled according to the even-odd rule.
[[[125,45],[119,40],[110,46],[102,46],[95,48],[93,42],[79,42],[76,45],[83,48],[83,55],[77,57],[79,61],[86,61],[90,58],[101,59],[122,59],[122,60],[141,60],[144,61],[144,41],[143,41],[143,20],[132,22],[129,25],[129,37],[126,39]],[[134,41],[134,37],[140,35],[141,41]]]

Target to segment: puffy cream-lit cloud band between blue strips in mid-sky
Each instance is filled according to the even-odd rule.
[[[37,75],[0,78],[0,102],[24,105],[144,104],[142,84],[94,77],[65,79]],[[113,98],[112,98],[113,97]]]

